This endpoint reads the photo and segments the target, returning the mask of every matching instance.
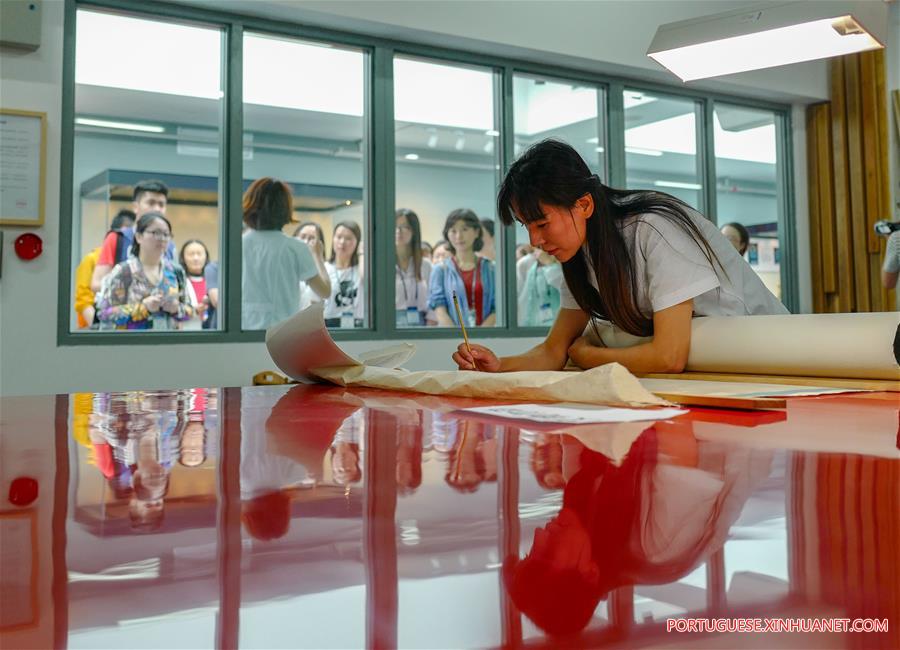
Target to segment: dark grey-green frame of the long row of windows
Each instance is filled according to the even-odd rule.
[[[189,21],[218,27],[223,33],[222,71],[224,76],[223,119],[221,125],[220,182],[221,194],[221,259],[222,291],[226,298],[221,312],[221,330],[180,332],[70,332],[73,296],[71,282],[73,262],[73,184],[75,144],[75,18],[79,9],[114,11],[160,20]],[[372,309],[374,304],[394,303],[394,210],[395,210],[395,144],[393,58],[420,57],[447,64],[475,65],[494,70],[499,92],[495,94],[495,111],[500,136],[498,152],[500,175],[514,160],[513,76],[517,74],[546,76],[597,86],[605,99],[606,165],[608,181],[614,187],[624,186],[625,121],[622,92],[625,88],[670,97],[689,99],[698,105],[698,162],[704,184],[704,214],[715,218],[715,156],[713,151],[712,111],[716,102],[772,111],[776,120],[776,152],[780,163],[779,237],[782,248],[782,301],[796,311],[799,307],[797,271],[797,236],[794,208],[793,149],[791,106],[789,104],[747,98],[726,93],[705,92],[674,84],[645,82],[615,75],[592,72],[577,67],[557,66],[442,48],[412,41],[398,41],[364,34],[310,27],[299,23],[246,16],[227,11],[214,11],[166,3],[144,3],[140,0],[65,0],[62,69],[62,116],[60,155],[60,223],[59,275],[57,286],[57,345],[156,345],[196,343],[258,343],[265,340],[263,331],[241,330],[241,188],[243,147],[243,34],[258,34],[303,39],[360,49],[366,56],[364,118],[364,204],[367,238],[374,248],[366,255],[371,291],[366,292],[368,327],[354,330],[329,330],[337,341],[446,339],[458,336],[455,328],[397,328],[392,310]],[[713,154],[713,155],[710,155]],[[712,188],[712,191],[710,190]],[[498,224],[499,225],[499,224]],[[491,328],[473,328],[470,336],[485,338],[541,337],[542,327],[520,327],[516,310],[515,236],[512,228],[498,228],[498,252],[503,258],[498,265],[498,287],[502,288],[503,324]],[[378,254],[376,254],[376,251]]]

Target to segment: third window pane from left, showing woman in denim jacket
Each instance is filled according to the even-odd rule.
[[[467,327],[502,323],[497,87],[489,68],[394,59],[398,327],[456,326],[454,291]]]

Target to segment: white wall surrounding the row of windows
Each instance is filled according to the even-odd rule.
[[[207,4],[217,9],[222,7],[221,3]],[[561,65],[668,79],[653,70],[644,56],[646,43],[656,25],[733,6],[733,3],[721,0],[641,3],[262,3],[236,0],[228,8],[274,11],[282,17],[308,21],[318,16],[321,24],[332,23],[343,29],[365,28],[374,34],[415,38],[436,45],[468,46],[482,52],[515,54]],[[896,13],[896,6],[893,11]],[[273,368],[262,343],[177,345],[174,346],[177,349],[164,354],[160,354],[155,346],[57,347],[63,40],[63,3],[60,0],[44,2],[43,21],[42,45],[37,52],[0,53],[0,103],[3,107],[45,111],[48,116],[46,222],[35,229],[44,240],[44,254],[31,262],[18,260],[12,242],[22,229],[3,228],[0,394],[247,384],[253,373]],[[540,54],[538,48],[544,53]],[[805,103],[827,98],[827,67],[822,62],[815,62],[736,75],[696,86]],[[802,123],[802,120],[795,120],[795,126],[802,128]],[[796,161],[804,156],[805,144],[795,141],[794,147]],[[795,189],[797,196],[805,195],[805,179],[797,178]],[[798,220],[802,217],[798,214]],[[801,250],[808,245],[807,241],[808,238],[800,237]],[[500,353],[532,343],[519,339],[486,342],[494,344]],[[356,352],[378,344],[368,342],[346,347],[350,352]],[[456,344],[455,339],[428,341],[420,345],[420,352],[410,367],[448,368],[449,352]]]

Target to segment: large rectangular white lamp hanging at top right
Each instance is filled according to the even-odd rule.
[[[670,23],[656,31],[647,56],[692,81],[878,49],[860,17],[878,24],[869,12],[879,4],[788,2]]]

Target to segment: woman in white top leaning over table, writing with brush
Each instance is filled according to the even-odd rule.
[[[614,190],[567,144],[533,145],[510,168],[497,199],[501,221],[528,229],[531,245],[562,262],[559,314],[532,350],[500,359],[465,346],[461,369],[559,370],[618,362],[636,373],[681,372],[696,316],[784,314],[787,310],[716,227],[661,192]],[[627,348],[582,336],[591,318],[649,337]]]

